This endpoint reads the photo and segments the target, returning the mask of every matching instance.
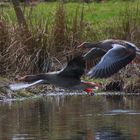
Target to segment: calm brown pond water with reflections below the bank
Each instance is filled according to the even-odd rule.
[[[140,97],[61,95],[1,102],[0,140],[140,140]]]

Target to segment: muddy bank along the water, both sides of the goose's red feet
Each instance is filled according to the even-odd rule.
[[[0,100],[6,100],[6,99],[19,99],[23,97],[34,97],[36,95],[51,95],[51,94],[64,94],[64,93],[80,93],[80,94],[86,94],[82,91],[69,91],[69,90],[63,90],[59,88],[55,88],[51,85],[39,85],[39,86],[33,86],[27,89],[12,91],[8,88],[8,85],[13,83],[13,81],[8,80],[7,78],[0,77]],[[135,95],[136,93],[140,93],[140,81],[137,80],[135,82],[124,82],[122,80],[118,81],[111,81],[109,80],[108,83],[103,83],[102,87],[98,90],[95,90],[94,95],[106,95],[108,92],[108,95],[122,95],[125,93],[126,95]],[[113,93],[114,92],[114,93]],[[138,95],[138,94],[136,94]]]

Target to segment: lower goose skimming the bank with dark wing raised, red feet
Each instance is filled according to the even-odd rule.
[[[60,71],[25,75],[18,78],[18,81],[27,82],[27,84],[22,85],[19,83],[19,86],[12,84],[10,85],[10,88],[12,90],[19,90],[36,84],[52,84],[63,89],[84,90],[87,93],[91,93],[93,92],[93,88],[97,87],[98,84],[81,80],[84,71],[85,60],[83,57],[77,56],[70,60],[66,67]],[[30,82],[32,83],[29,84]]]

